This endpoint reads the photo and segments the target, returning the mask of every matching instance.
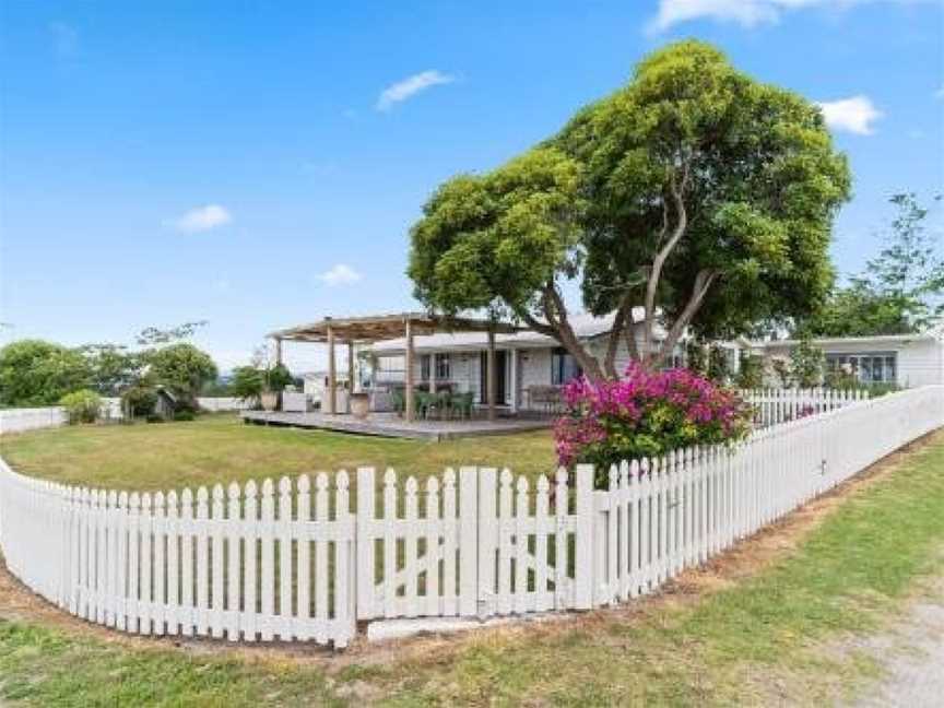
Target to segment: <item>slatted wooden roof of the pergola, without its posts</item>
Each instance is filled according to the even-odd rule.
[[[317,322],[298,324],[269,334],[276,340],[295,342],[375,342],[405,337],[406,324],[414,334],[435,332],[517,332],[522,328],[508,322],[468,317],[439,317],[427,312],[398,312],[367,317],[326,317]],[[484,334],[483,334],[484,337]]]

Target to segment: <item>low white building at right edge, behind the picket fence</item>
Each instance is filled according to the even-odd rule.
[[[765,357],[784,357],[795,340],[754,342]],[[864,384],[895,384],[914,388],[944,384],[944,323],[917,334],[814,339],[826,355],[827,369],[847,367]]]

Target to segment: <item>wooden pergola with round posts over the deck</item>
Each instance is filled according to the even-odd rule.
[[[465,317],[438,317],[425,312],[401,312],[370,317],[326,317],[317,322],[299,324],[269,334],[275,341],[275,358],[282,363],[282,342],[319,342],[328,344],[328,413],[338,413],[338,371],[334,362],[337,344],[347,345],[347,380],[354,385],[354,345],[404,337],[405,350],[405,411],[406,421],[414,417],[413,408],[413,338],[437,332],[486,332],[488,334],[488,418],[495,418],[495,334],[514,333],[522,328],[495,320]]]

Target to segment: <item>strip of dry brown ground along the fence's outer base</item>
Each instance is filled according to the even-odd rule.
[[[941,441],[944,441],[944,430],[916,440],[705,565],[685,571],[652,595],[615,607],[564,615],[555,622],[522,622],[457,635],[428,635],[374,644],[368,644],[362,637],[343,652],[333,652],[310,642],[231,645],[225,640],[200,638],[135,637],[84,622],[55,607],[13,578],[7,570],[2,557],[0,557],[0,618],[36,622],[76,637],[90,637],[133,649],[177,650],[194,654],[271,662],[283,666],[285,664],[319,665],[330,674],[342,672],[354,664],[382,668],[400,661],[425,660],[441,663],[448,661],[455,652],[474,642],[504,641],[524,633],[540,639],[542,636],[550,637],[574,629],[599,632],[613,620],[621,623],[633,622],[691,605],[706,595],[756,575],[790,554],[842,502],[885,479],[907,455]]]

